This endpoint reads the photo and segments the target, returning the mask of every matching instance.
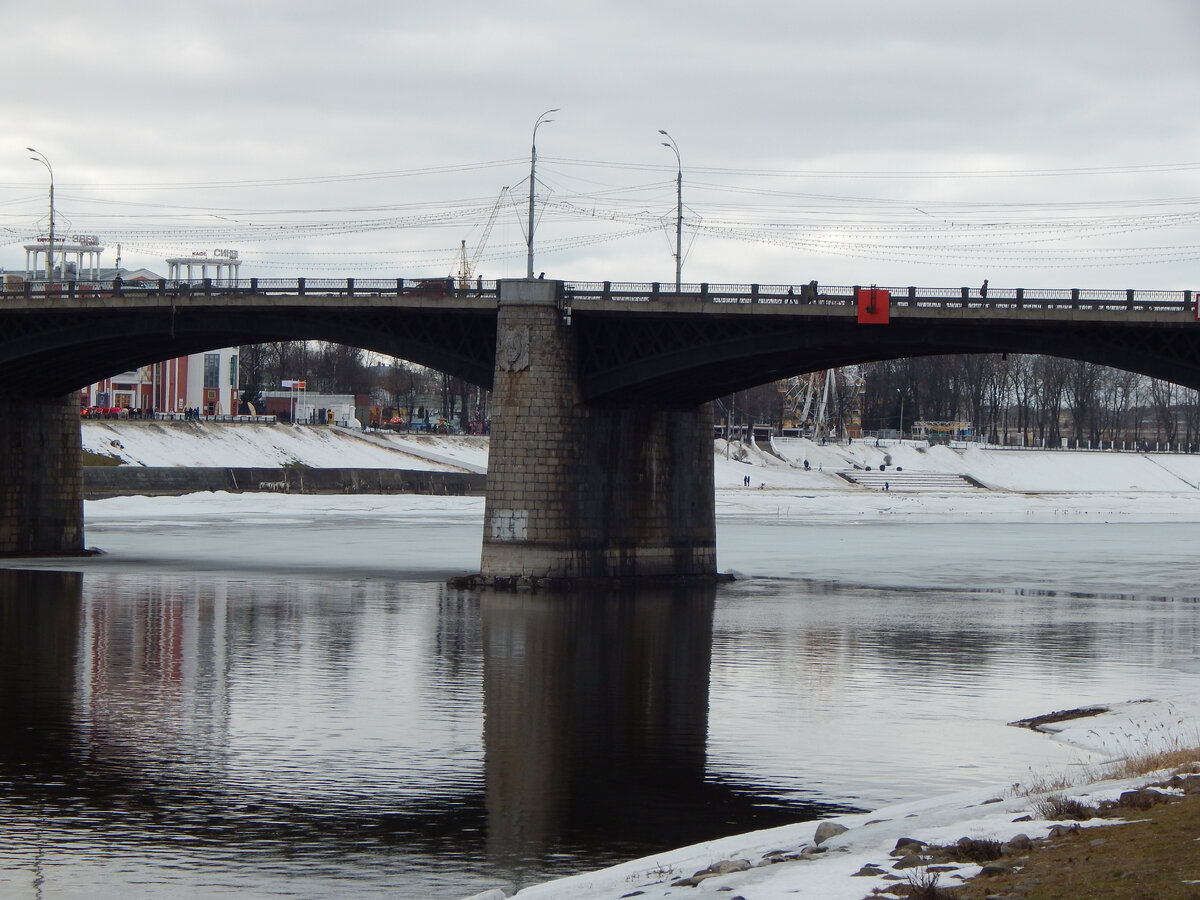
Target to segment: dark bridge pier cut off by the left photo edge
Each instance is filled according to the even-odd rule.
[[[83,552],[79,397],[0,389],[0,556]]]

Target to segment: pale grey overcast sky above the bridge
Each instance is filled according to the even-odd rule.
[[[1200,288],[1196,0],[0,0],[0,266]],[[510,188],[502,197],[503,188]],[[494,227],[481,244],[497,208]]]

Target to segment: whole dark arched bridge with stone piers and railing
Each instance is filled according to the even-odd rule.
[[[1040,353],[1200,389],[1190,290],[478,281],[25,283],[0,294],[0,554],[83,550],[74,391],[167,356],[324,340],[493,392],[481,570],[715,577],[710,401],[946,353]]]

